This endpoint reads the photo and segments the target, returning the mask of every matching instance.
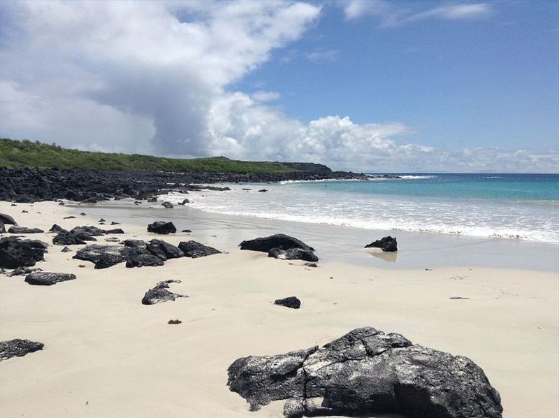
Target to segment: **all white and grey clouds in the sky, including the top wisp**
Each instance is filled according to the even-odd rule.
[[[345,20],[397,27],[486,18],[486,3],[421,11],[385,1],[340,3]],[[305,36],[318,3],[61,2],[1,4],[0,134],[107,152],[324,162],[375,171],[558,171],[555,151],[442,150],[405,140],[400,122],[350,116],[310,122],[231,89],[274,50]],[[335,52],[308,59],[328,61]]]

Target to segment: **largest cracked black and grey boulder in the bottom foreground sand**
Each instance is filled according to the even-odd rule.
[[[243,357],[228,377],[252,410],[286,399],[286,417],[502,417],[498,391],[472,360],[370,327],[321,348]]]

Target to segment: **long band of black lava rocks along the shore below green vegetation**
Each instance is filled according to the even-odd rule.
[[[290,163],[288,163],[290,164]],[[0,201],[33,203],[67,199],[96,203],[111,198],[148,199],[168,191],[187,192],[189,185],[218,182],[279,182],[363,178],[363,174],[331,171],[321,164],[291,163],[293,173],[168,173],[163,171],[101,171],[73,168],[0,168]],[[186,185],[185,185],[186,184]],[[211,186],[212,187],[212,186]],[[221,189],[213,187],[212,189]]]

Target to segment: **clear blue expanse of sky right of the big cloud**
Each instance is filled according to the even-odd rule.
[[[308,36],[238,85],[282,92],[275,103],[304,121],[398,121],[439,147],[557,148],[559,2],[495,2],[491,10],[382,27],[370,15],[347,21],[330,3]]]

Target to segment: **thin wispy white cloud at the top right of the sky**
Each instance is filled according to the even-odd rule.
[[[416,4],[421,2],[417,2]],[[402,8],[385,0],[351,0],[342,2],[346,20],[375,16],[383,27],[397,27],[422,20],[475,20],[493,15],[489,3],[449,3],[427,10]]]

